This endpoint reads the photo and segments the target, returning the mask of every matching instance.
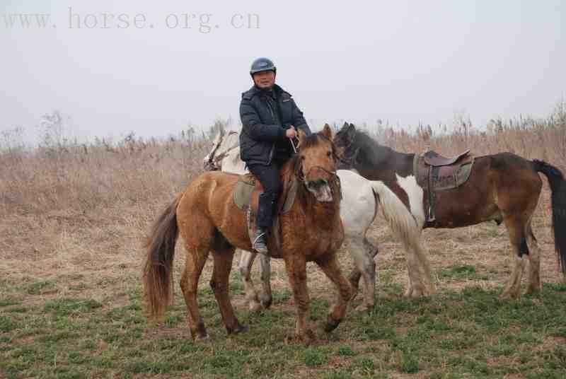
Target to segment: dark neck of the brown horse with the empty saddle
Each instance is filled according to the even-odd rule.
[[[359,160],[354,168],[360,175],[370,180],[381,180],[388,184],[396,181],[396,176],[413,175],[413,158],[415,154],[400,153],[379,144],[366,145],[360,151]]]

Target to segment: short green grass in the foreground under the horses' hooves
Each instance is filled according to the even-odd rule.
[[[462,265],[444,272],[460,281],[477,275]],[[542,293],[519,300],[501,300],[499,288],[478,286],[411,300],[389,296],[395,288],[386,283],[371,312],[350,307],[328,336],[320,326],[333,295],[311,293],[307,318],[318,339],[304,346],[289,339],[295,313],[286,289],[275,291],[272,308],[259,314],[237,308],[249,330],[229,337],[214,294],[202,286],[209,342],[190,339],[178,292],[166,317],[149,322],[135,282],[124,288],[98,279],[101,299],[81,277],[74,279],[80,297],[16,300],[70,288],[68,280],[1,282],[0,372],[7,378],[562,378],[566,371],[565,284],[545,284]],[[234,284],[232,296],[241,298],[241,284]]]

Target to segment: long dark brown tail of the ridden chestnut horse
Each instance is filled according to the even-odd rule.
[[[177,197],[157,218],[146,243],[144,289],[150,317],[163,315],[173,295],[173,256],[179,235],[177,226]]]

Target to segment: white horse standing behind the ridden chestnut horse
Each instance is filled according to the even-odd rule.
[[[206,170],[222,170],[227,173],[246,174],[246,165],[240,159],[238,132],[219,132],[212,141],[212,150],[204,157]],[[342,185],[342,202],[340,203],[340,218],[344,227],[345,239],[342,247],[352,255],[354,270],[350,274],[350,282],[354,290],[358,288],[360,276],[364,279],[364,301],[357,310],[363,311],[374,306],[376,264],[374,257],[378,248],[366,238],[371,223],[376,218],[378,205],[384,218],[388,221],[393,233],[398,235],[405,245],[409,278],[413,288],[411,296],[422,296],[423,293],[434,292],[434,284],[423,283],[421,278],[432,277],[429,274],[429,264],[418,243],[420,230],[415,218],[398,197],[381,181],[371,181],[349,170],[338,170]],[[258,296],[251,280],[251,268],[257,253],[243,251],[238,269],[244,279],[246,301],[250,310],[258,311],[268,308],[272,301],[270,284],[270,257],[260,255],[260,277],[262,292]],[[427,270],[427,272],[423,272]],[[414,274],[413,274],[414,273]]]

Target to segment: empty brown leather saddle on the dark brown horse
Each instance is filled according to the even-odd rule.
[[[469,149],[451,158],[432,150],[422,156],[415,154],[413,172],[417,184],[424,189],[424,213],[427,223],[436,220],[435,208],[439,192],[454,189],[468,181],[473,161],[474,156],[470,154]]]

